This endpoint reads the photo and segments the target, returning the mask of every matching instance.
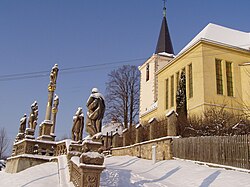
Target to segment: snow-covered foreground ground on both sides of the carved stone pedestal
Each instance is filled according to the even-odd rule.
[[[69,182],[66,156],[59,164],[50,162],[22,172],[0,171],[1,187],[72,187]],[[151,160],[130,156],[105,158],[106,169],[101,175],[102,187],[241,187],[250,186],[250,174],[208,167],[185,160]],[[250,172],[250,171],[249,171]]]

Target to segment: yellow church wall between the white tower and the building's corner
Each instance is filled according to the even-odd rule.
[[[192,64],[192,80],[193,80],[193,96],[189,98],[189,74],[188,68]],[[191,112],[198,112],[201,110],[202,103],[204,99],[204,77],[200,73],[203,71],[202,64],[202,46],[199,45],[192,49],[189,53],[173,61],[171,65],[163,69],[158,74],[159,80],[159,94],[158,94],[158,111],[157,115],[162,116],[166,115],[169,111],[176,109],[176,91],[177,91],[177,72],[179,76],[182,69],[185,68],[186,72],[186,94],[187,94],[187,106],[188,110]],[[171,76],[174,76],[174,106],[171,106]],[[168,108],[166,106],[166,79],[168,79]]]

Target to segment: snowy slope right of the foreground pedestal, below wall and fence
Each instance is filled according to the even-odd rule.
[[[191,161],[150,160],[121,156],[105,159],[101,186],[239,187],[250,186],[250,174],[198,165]]]

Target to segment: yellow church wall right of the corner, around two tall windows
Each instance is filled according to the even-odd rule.
[[[220,59],[222,64],[223,94],[217,94],[216,90],[216,68],[215,60]],[[240,64],[250,61],[250,54],[243,53],[229,48],[203,44],[204,63],[204,84],[206,105],[223,106],[234,113],[241,113],[243,110],[243,100],[250,101],[249,89],[246,89],[250,76],[244,73]],[[227,93],[226,62],[232,63],[233,96]],[[249,85],[248,85],[249,88]]]

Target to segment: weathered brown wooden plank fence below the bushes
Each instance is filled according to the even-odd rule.
[[[250,169],[250,135],[173,139],[173,156]]]

